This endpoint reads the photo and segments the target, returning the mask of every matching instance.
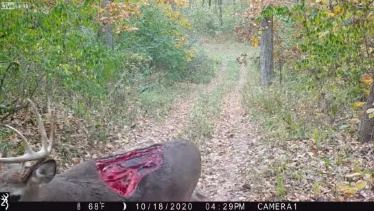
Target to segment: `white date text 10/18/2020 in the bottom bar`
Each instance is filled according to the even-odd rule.
[[[137,210],[192,210],[191,203],[137,203]]]

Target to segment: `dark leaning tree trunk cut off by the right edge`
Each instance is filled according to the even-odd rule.
[[[370,94],[366,101],[366,107],[364,113],[361,115],[360,127],[358,128],[358,138],[360,142],[371,142],[373,141],[373,129],[374,119],[369,118],[366,113],[367,109],[374,108],[374,84],[371,85]]]

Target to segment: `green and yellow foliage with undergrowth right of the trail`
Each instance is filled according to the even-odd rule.
[[[261,89],[256,82],[248,83],[244,94],[244,103],[255,110],[248,111],[260,120],[270,138],[308,137],[319,146],[330,141],[334,132],[351,136],[357,129],[355,123],[343,120],[358,118],[356,107],[364,103],[356,101],[365,101],[373,81],[369,76],[374,65],[370,3],[279,3],[251,19],[251,24],[258,25],[264,16],[274,16],[274,67],[282,84]],[[252,31],[251,41],[257,45],[261,30]]]

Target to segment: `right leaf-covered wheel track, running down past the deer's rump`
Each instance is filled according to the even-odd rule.
[[[246,190],[241,164],[250,156],[248,125],[244,121],[240,91],[246,80],[245,67],[240,67],[239,82],[224,96],[220,122],[211,140],[205,144],[202,155],[202,182],[200,189],[214,201],[244,200]]]

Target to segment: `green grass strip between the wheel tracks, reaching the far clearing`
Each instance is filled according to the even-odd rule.
[[[215,128],[215,124],[220,119],[222,109],[222,100],[239,81],[239,65],[236,62],[237,56],[242,53],[253,55],[253,49],[240,43],[216,43],[203,44],[204,48],[209,54],[209,58],[213,61],[211,65],[218,65],[226,63],[226,70],[224,70],[222,78],[213,89],[198,91],[196,102],[189,114],[189,122],[183,134],[196,142],[209,139]]]

